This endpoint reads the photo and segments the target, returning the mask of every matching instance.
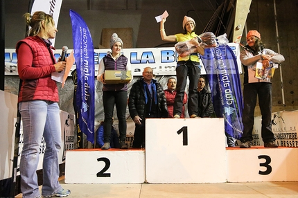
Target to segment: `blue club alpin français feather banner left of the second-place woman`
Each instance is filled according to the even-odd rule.
[[[89,28],[85,21],[73,10],[69,11],[73,31],[73,53],[76,58],[77,90],[76,105],[78,124],[94,143],[94,47]]]

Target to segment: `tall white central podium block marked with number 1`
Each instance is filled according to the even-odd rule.
[[[146,119],[146,181],[226,182],[223,118]]]

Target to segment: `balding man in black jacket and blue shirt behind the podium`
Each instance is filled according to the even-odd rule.
[[[161,84],[153,78],[153,70],[146,67],[143,78],[134,82],[130,90],[128,108],[134,120],[134,143],[132,147],[145,147],[145,119],[167,118],[166,97]]]

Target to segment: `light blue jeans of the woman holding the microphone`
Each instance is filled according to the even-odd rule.
[[[38,197],[37,165],[42,136],[46,142],[43,161],[42,195],[62,190],[59,178],[58,152],[61,148],[60,110],[57,102],[32,100],[19,102],[23,122],[24,146],[19,171],[23,197]]]

